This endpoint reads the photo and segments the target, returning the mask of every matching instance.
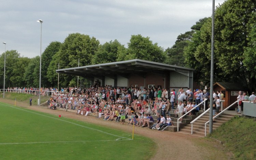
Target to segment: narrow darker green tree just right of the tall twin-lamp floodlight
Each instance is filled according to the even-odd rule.
[[[59,51],[61,42],[54,41],[51,42],[42,54],[42,66],[41,66],[41,84],[42,87],[49,87],[51,83],[47,78],[47,69],[50,65],[50,62],[53,60],[53,56]]]

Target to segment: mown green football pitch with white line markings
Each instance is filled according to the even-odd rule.
[[[150,159],[146,137],[0,103],[0,159]]]

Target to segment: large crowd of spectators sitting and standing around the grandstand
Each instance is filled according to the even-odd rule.
[[[8,88],[8,91],[13,89],[23,90],[24,92],[29,90],[38,91],[37,88],[18,87]],[[42,95],[45,95],[47,91],[53,93],[48,101],[48,108],[50,109],[56,109],[56,107],[73,109],[77,110],[76,114],[79,115],[95,114],[97,118],[102,118],[106,121],[115,120],[115,122],[120,122],[121,120],[122,125],[128,117],[127,115],[131,115],[128,124],[153,129],[160,129],[166,123],[167,125],[172,125],[172,112],[174,112],[174,117],[179,118],[195,108],[188,115],[196,115],[196,112],[203,109],[203,105],[198,104],[205,99],[208,99],[205,110],[208,109],[210,98],[210,93],[201,89],[194,91],[187,89],[185,91],[181,88],[176,93],[174,89],[168,91],[167,89],[153,87],[148,89],[139,87],[114,88],[108,85],[98,87],[97,84],[84,89],[76,87],[61,88],[60,91],[57,88],[41,88]],[[175,100],[176,94],[177,100]],[[224,94],[221,91],[213,92],[214,115],[215,112],[220,111],[223,97]],[[255,98],[254,93],[249,97],[246,93],[239,92],[238,101],[255,102]],[[241,108],[238,109],[238,113],[241,113]],[[153,124],[152,115],[158,116],[155,124]],[[182,123],[182,119],[180,119],[180,123]]]

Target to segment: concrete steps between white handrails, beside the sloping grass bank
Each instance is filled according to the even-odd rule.
[[[209,112],[205,113],[201,118],[199,118],[197,121],[193,123],[193,135],[197,137],[204,137],[205,136],[205,130],[204,130],[204,124],[209,121]],[[222,113],[218,118],[215,119],[215,123],[213,123],[213,130],[217,129],[219,126],[221,126],[223,123],[229,121],[231,118],[233,118],[235,115],[233,114],[227,114]],[[209,124],[207,124],[206,133],[209,134]],[[188,124],[181,128],[181,133],[191,135],[191,124]]]

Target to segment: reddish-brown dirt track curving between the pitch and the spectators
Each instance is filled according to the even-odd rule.
[[[12,100],[0,98],[0,101],[14,105]],[[82,115],[76,115],[73,112],[51,110],[41,106],[29,106],[29,104],[20,102],[17,102],[16,106],[50,113],[56,116],[61,114],[63,117],[132,132],[132,125],[128,124],[120,125],[120,123],[115,123],[113,121],[103,121],[102,119],[96,119],[95,117],[91,116],[85,117]],[[231,154],[229,152],[225,152],[226,149],[217,142],[205,140],[204,138],[197,138],[190,135],[184,135],[180,132],[158,131],[148,128],[136,127],[134,134],[146,136],[155,141],[157,147],[154,148],[157,149],[157,152],[155,156],[152,157],[152,159],[205,160],[229,159],[232,157]],[[222,155],[224,157],[219,157],[217,155]]]

